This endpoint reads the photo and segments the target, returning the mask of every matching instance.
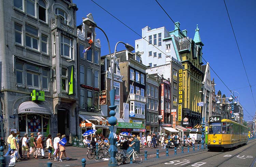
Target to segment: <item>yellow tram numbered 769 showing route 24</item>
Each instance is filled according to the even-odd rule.
[[[221,117],[209,118],[208,149],[233,148],[246,145],[247,141],[247,126],[229,119],[221,119]]]

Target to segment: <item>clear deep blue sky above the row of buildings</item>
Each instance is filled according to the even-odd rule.
[[[105,10],[123,21],[131,29],[141,35],[141,29],[149,26],[153,28],[166,27],[168,31],[174,29],[174,24],[163,12],[155,0],[95,0]],[[196,25],[203,46],[203,57],[217,75],[231,90],[239,92],[239,101],[244,107],[244,120],[252,120],[256,108],[252,93],[243,69],[239,51],[234,39],[228,19],[224,1],[167,1],[158,0],[170,17],[180,22],[180,29],[186,29],[188,36],[194,38]],[[252,86],[256,100],[255,79],[255,27],[256,27],[256,1],[254,0],[226,0],[229,16],[238,41],[245,69]],[[125,27],[114,17],[106,13],[91,0],[73,0],[79,10],[77,25],[82,22],[82,17],[92,13],[94,21],[108,35],[111,52],[114,51],[116,42],[123,41],[134,46],[134,41],[140,39],[136,33]],[[101,55],[109,53],[104,34],[96,29],[96,38],[101,40]],[[125,49],[118,45],[118,50]],[[206,64],[204,62],[204,64]],[[215,78],[216,94],[230,95],[230,92],[211,70],[211,78]],[[238,93],[234,92],[238,96]],[[251,115],[251,116],[250,116]]]

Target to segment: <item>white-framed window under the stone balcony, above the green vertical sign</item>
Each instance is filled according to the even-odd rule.
[[[73,40],[61,35],[61,55],[73,59]]]

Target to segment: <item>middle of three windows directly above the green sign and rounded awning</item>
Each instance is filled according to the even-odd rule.
[[[27,64],[27,85],[39,88],[40,74],[39,66]]]

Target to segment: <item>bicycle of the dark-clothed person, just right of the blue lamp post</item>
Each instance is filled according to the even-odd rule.
[[[129,156],[128,156],[128,154],[129,154]],[[123,150],[118,151],[116,153],[116,161],[118,162],[118,165],[122,165],[125,162],[130,163],[131,156],[133,158],[133,161],[136,161],[138,164],[140,164],[142,162],[140,154],[137,151],[134,151],[133,147],[132,147],[132,150],[129,151],[127,154],[125,154]]]

